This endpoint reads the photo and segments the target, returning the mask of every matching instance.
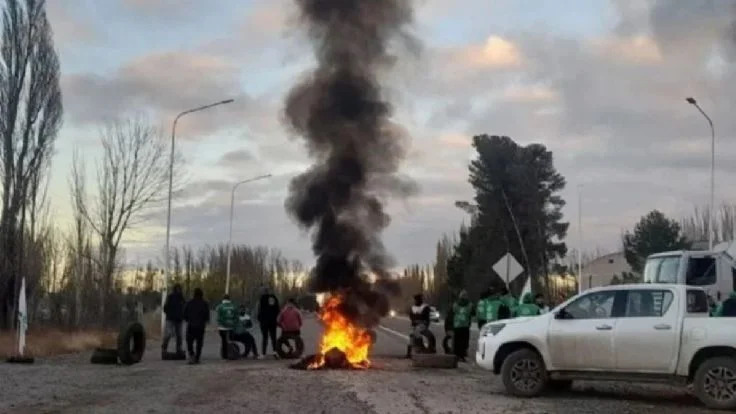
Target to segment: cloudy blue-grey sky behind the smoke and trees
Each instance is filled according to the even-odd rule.
[[[622,229],[658,208],[679,217],[708,200],[710,132],[685,102],[694,96],[717,130],[717,201],[735,202],[736,3],[728,0],[418,0],[421,53],[385,79],[396,120],[412,136],[403,172],[421,191],[390,204],[386,244],[399,264],[426,263],[443,233],[466,219],[467,163],[475,134],[541,142],[567,178],[568,243],[577,247],[582,188],[584,248],[616,249]],[[289,180],[309,165],[281,122],[290,86],[313,65],[290,0],[49,0],[63,70],[65,124],[51,203],[69,221],[72,153],[97,154],[100,124],[140,112],[178,144],[187,184],[175,200],[172,243],[234,240],[278,247],[312,263],[309,237],[283,208]],[[580,187],[582,185],[582,187]],[[162,252],[165,217],[126,240],[127,260]]]

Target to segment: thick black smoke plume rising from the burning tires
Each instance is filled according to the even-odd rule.
[[[384,203],[412,189],[398,176],[406,139],[379,82],[395,62],[391,46],[410,39],[412,1],[294,1],[317,68],[290,91],[285,115],[315,164],[291,182],[286,208],[312,230],[310,288],[342,292],[348,316],[370,327],[396,286],[381,241],[390,222]]]

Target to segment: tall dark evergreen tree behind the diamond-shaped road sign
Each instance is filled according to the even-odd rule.
[[[567,252],[562,240],[568,223],[562,221],[565,202],[559,195],[565,179],[544,145],[479,135],[473,146],[478,157],[470,164],[470,183],[478,214],[448,260],[448,281],[477,297],[489,285],[504,283],[491,269],[507,252],[529,276],[546,276],[550,264]]]

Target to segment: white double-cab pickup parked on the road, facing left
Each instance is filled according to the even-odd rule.
[[[736,408],[736,319],[709,318],[697,287],[591,289],[547,314],[484,325],[475,358],[519,397],[573,380],[665,382],[692,385],[711,408]]]

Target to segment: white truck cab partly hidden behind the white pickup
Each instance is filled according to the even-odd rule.
[[[736,288],[736,242],[720,243],[708,250],[678,250],[647,257],[644,283],[676,283],[698,286],[720,302]]]

